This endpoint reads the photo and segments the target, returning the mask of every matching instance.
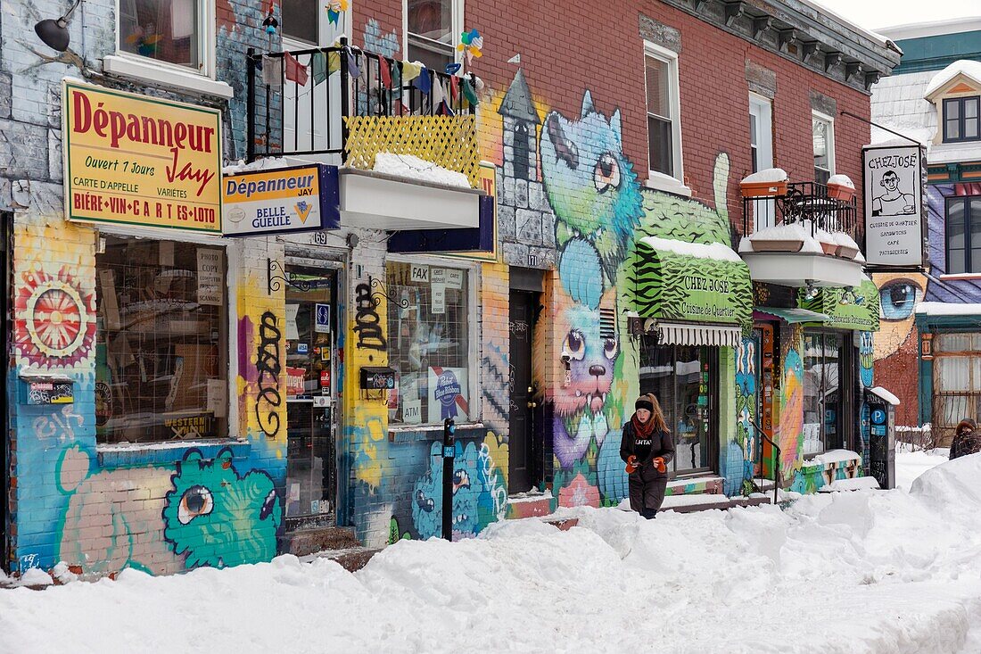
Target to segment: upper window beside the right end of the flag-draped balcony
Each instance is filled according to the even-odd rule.
[[[406,0],[404,11],[407,59],[443,72],[447,64],[456,61],[456,40],[463,31],[463,0]]]

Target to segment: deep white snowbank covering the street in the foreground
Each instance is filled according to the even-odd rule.
[[[786,511],[584,509],[566,532],[512,520],[402,541],[354,574],[284,556],[0,591],[0,650],[976,653],[979,478],[981,455],[909,492]]]

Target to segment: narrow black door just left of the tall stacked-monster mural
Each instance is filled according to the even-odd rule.
[[[533,455],[532,328],[535,322],[535,294],[511,291],[509,328],[511,331],[510,376],[511,424],[508,436],[511,493],[531,490],[535,485]]]

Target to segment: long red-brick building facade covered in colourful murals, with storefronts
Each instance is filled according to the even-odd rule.
[[[10,98],[0,99],[0,210],[9,229],[14,371],[5,393],[5,567],[50,569],[66,561],[93,575],[221,567],[296,551],[297,532],[335,523],[369,546],[439,535],[439,439],[447,416],[458,427],[456,537],[556,505],[613,506],[627,485],[620,427],[641,391],[661,396],[676,432],[672,494],[749,494],[760,475],[808,491],[862,471],[867,438],[858,418],[835,418],[837,432],[825,424],[818,450],[804,445],[811,419],[804,402],[814,395],[807,395],[813,383],[805,339],[830,332],[813,337],[807,330],[814,325],[793,317],[801,307],[792,287],[801,284],[750,287],[734,252],[746,231],[740,180],[754,172],[758,144],[750,135],[750,93],[772,117],[771,161],[759,167],[782,168],[792,182],[814,180],[815,117],[824,117],[833,136],[822,133],[821,169],[857,179],[869,136],[862,120],[868,87],[898,60],[884,40],[800,0],[758,7],[628,2],[598,16],[577,0],[548,20],[521,3],[451,0],[441,3],[448,13],[434,18],[404,12],[400,2],[355,1],[329,23],[311,14],[320,27],[312,38],[295,17],[290,24],[279,3],[272,3],[272,17],[280,27],[270,35],[265,8],[219,1],[206,3],[193,24],[203,39],[206,75],[199,76],[180,68],[186,62],[157,61],[182,47],[186,37],[176,34],[188,28],[188,17],[172,15],[150,34],[137,11],[142,4],[84,2],[69,21],[72,49],[61,55],[31,27],[60,15],[62,5],[25,0],[23,12],[0,17],[0,98]],[[593,17],[592,24],[582,17]],[[223,239],[66,219],[65,78],[220,109],[228,163],[271,143],[285,163],[295,163],[284,143],[297,126],[283,113],[256,134],[255,117],[318,88],[333,97],[338,70],[350,75],[354,61],[336,67],[331,57],[348,54],[336,37],[390,57],[388,74],[397,71],[406,84],[386,88],[387,96],[398,90],[408,107],[412,68],[402,62],[460,61],[453,47],[459,31],[475,27],[485,39],[483,56],[470,65],[480,78],[473,82],[480,93],[475,156],[487,164],[482,189],[496,200],[491,251],[398,251],[390,223],[378,221],[329,233]],[[325,56],[297,55],[309,82],[269,72],[286,60],[246,59],[248,48],[310,47]],[[355,86],[355,113],[381,106],[385,83],[380,68],[357,61],[379,91]],[[453,89],[465,82],[439,83],[456,98]],[[664,139],[652,143],[655,130]],[[663,158],[655,163],[654,155]],[[180,285],[165,279],[196,279],[200,287],[194,266],[180,262],[201,249],[221,250],[225,262],[213,327],[201,327],[193,344],[174,332],[166,353],[146,345],[150,330],[113,327],[110,297],[135,311],[129,305],[179,297]],[[274,290],[274,261],[308,290]],[[153,268],[146,272],[152,281],[126,271],[137,263]],[[638,272],[645,265],[675,272],[645,276]],[[685,295],[686,277],[714,294]],[[122,293],[124,280],[138,279]],[[311,288],[313,296],[302,295]],[[37,325],[51,316],[38,312],[38,301],[51,293],[74,301],[83,336],[44,340]],[[649,308],[675,296],[689,308]],[[297,316],[309,319],[317,302],[332,307],[329,332],[297,326]],[[793,315],[753,314],[754,306]],[[169,318],[168,329],[190,331],[190,318],[178,317]],[[369,324],[374,345],[364,339]],[[871,385],[858,342],[871,328],[841,324],[834,333],[846,354],[836,365],[854,386],[850,391],[843,379],[839,394],[852,398],[841,402],[858,415],[860,389]],[[211,391],[191,392],[175,381],[181,373],[174,366],[182,371],[194,352],[211,357],[198,385],[211,382]],[[275,370],[268,367],[274,360]],[[764,362],[776,380],[768,387]],[[387,366],[397,388],[366,392],[362,369]],[[32,374],[68,379],[74,401],[28,404],[23,392]],[[290,390],[291,375],[301,390]],[[121,387],[154,380],[167,389],[154,401],[200,401],[194,409],[203,417],[191,416],[197,431],[145,435],[178,419],[161,417],[176,401],[130,409],[139,405]],[[277,402],[270,402],[268,384]],[[329,400],[310,397],[307,384]],[[151,416],[139,418],[145,423],[126,426],[144,413]],[[755,435],[754,418],[781,447],[779,457]],[[189,423],[167,427],[179,424]],[[836,448],[851,454],[813,458]],[[232,490],[220,496],[212,482]],[[194,528],[205,520],[212,530]]]

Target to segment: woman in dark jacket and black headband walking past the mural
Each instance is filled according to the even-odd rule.
[[[620,459],[627,463],[630,508],[653,518],[664,502],[668,485],[667,465],[674,459],[674,443],[664,413],[653,394],[634,403],[634,415],[623,426]]]

